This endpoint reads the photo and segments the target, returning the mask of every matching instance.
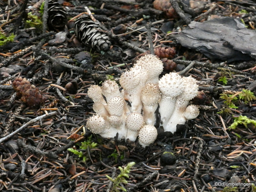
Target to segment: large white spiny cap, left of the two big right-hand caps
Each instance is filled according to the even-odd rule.
[[[183,93],[185,85],[183,78],[177,73],[169,73],[159,80],[159,89],[166,96],[177,97]]]

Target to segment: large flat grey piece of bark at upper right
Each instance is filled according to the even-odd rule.
[[[210,59],[227,62],[256,58],[256,32],[233,17],[204,23],[192,21],[180,34],[173,35],[184,47],[196,49]]]

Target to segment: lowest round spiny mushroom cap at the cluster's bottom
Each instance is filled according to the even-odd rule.
[[[144,125],[139,131],[139,143],[143,147],[154,143],[157,139],[157,129],[153,125]]]

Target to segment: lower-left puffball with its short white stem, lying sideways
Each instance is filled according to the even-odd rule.
[[[86,123],[86,127],[94,134],[100,134],[102,137],[115,137],[117,130],[110,127],[105,119],[99,115],[91,116]]]

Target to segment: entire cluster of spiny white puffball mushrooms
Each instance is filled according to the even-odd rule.
[[[177,73],[159,79],[162,71],[159,58],[145,55],[121,75],[121,92],[118,84],[111,80],[102,83],[102,87],[90,86],[87,93],[94,102],[96,115],[88,119],[87,128],[102,137],[113,138],[118,133],[119,140],[135,141],[139,136],[140,145],[145,147],[157,138],[154,125],[158,105],[164,131],[174,133],[176,125],[195,119],[198,106],[187,105],[198,93],[196,80]]]

